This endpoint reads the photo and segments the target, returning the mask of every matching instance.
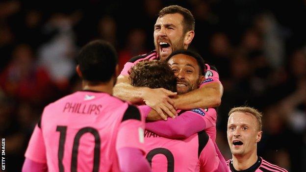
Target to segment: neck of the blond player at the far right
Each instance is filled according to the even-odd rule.
[[[257,161],[257,151],[254,151],[251,154],[245,154],[242,156],[234,156],[233,159],[233,166],[235,170],[241,171],[246,170],[253,166]]]

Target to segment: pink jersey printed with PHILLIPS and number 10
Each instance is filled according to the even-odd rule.
[[[106,93],[79,91],[44,109],[26,158],[49,172],[119,172],[116,150],[144,152],[144,119],[138,108]]]

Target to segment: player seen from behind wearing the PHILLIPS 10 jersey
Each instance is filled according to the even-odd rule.
[[[149,172],[144,118],[112,96],[115,49],[102,40],[77,57],[82,91],[45,107],[29,141],[23,172]]]

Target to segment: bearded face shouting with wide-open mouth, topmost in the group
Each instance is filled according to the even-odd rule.
[[[173,51],[184,49],[183,16],[166,14],[156,20],[154,25],[154,45],[161,60]]]

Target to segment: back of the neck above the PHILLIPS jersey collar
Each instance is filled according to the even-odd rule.
[[[108,93],[110,95],[113,95],[113,79],[111,79],[109,82],[103,82],[98,85],[91,85],[86,81],[83,81],[82,83],[82,89],[83,90],[92,90],[92,91],[98,91],[103,93]]]

